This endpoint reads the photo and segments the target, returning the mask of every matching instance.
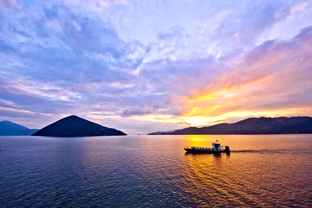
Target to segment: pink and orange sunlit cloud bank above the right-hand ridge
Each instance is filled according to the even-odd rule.
[[[229,73],[195,89],[192,115],[220,116],[233,111],[307,108],[312,99],[312,27],[289,41],[271,40],[248,52]]]

